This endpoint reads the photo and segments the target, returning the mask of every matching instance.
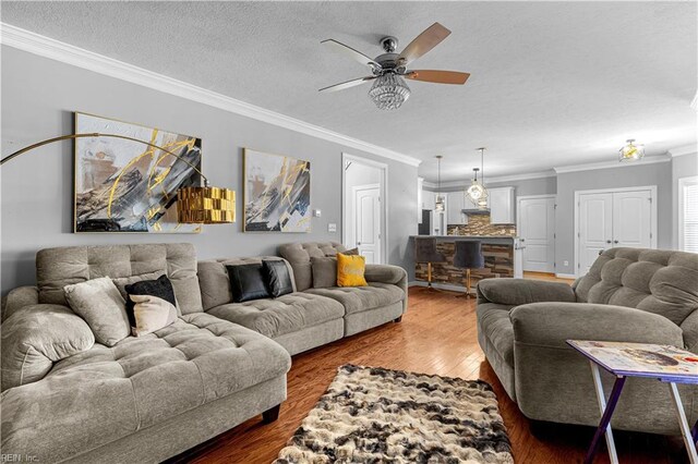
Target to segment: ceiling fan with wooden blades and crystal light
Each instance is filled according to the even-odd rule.
[[[329,93],[344,90],[363,83],[374,81],[369,97],[381,109],[398,109],[410,96],[410,88],[405,83],[405,78],[411,81],[432,82],[436,84],[459,84],[468,81],[470,74],[456,71],[436,70],[408,70],[407,66],[421,56],[442,42],[450,30],[438,23],[429,26],[422,34],[417,36],[405,49],[397,53],[397,38],[393,36],[383,37],[381,46],[385,53],[375,59],[371,59],[353,48],[334,39],[323,40],[325,47],[342,53],[361,64],[369,66],[372,75],[359,77],[340,84],[321,88],[320,91]]]

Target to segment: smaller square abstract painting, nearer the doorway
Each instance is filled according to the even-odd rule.
[[[310,232],[310,161],[244,149],[244,231]]]

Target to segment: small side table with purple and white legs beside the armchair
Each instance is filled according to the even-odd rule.
[[[686,420],[686,413],[678,394],[677,383],[698,384],[698,355],[670,345],[648,343],[597,342],[567,340],[567,344],[589,359],[594,390],[601,410],[601,423],[587,451],[585,464],[591,464],[599,448],[601,436],[605,434],[609,456],[617,464],[618,456],[611,431],[611,416],[621,398],[623,384],[628,377],[643,377],[666,382],[676,408],[676,418],[681,428],[686,451],[691,464],[698,464],[696,441],[698,440],[698,423],[691,428]],[[611,396],[606,404],[599,367],[615,376]]]

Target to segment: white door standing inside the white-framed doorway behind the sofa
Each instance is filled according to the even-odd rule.
[[[381,187],[354,187],[356,237],[366,264],[381,262]]]

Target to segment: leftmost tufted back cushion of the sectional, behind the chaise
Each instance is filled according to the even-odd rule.
[[[39,303],[68,305],[63,286],[109,276],[112,279],[164,272],[182,314],[202,313],[196,253],[190,243],[64,246],[36,254]]]

